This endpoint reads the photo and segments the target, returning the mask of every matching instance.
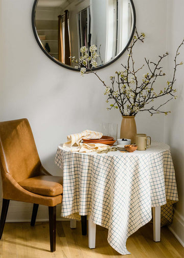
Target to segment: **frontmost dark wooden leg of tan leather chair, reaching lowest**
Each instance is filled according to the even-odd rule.
[[[56,251],[56,206],[49,206],[49,230],[51,252]]]

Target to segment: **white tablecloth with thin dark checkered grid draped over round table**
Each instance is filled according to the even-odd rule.
[[[174,167],[167,144],[152,142],[133,153],[72,153],[61,146],[55,163],[63,169],[61,216],[91,216],[108,228],[108,243],[129,254],[127,238],[148,223],[151,207],[178,201]]]

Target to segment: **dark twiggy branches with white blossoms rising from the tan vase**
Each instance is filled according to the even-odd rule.
[[[174,73],[171,81],[167,81],[163,90],[156,92],[154,90],[154,83],[157,78],[165,76],[163,72],[163,67],[161,63],[165,57],[168,56],[168,52],[163,55],[158,56],[158,60],[153,62],[145,58],[146,66],[148,72],[143,75],[141,82],[139,82],[138,74],[145,67],[143,64],[140,68],[135,68],[135,62],[133,57],[133,47],[136,42],[144,42],[145,34],[141,33],[139,35],[135,30],[135,35],[132,38],[130,46],[127,48],[128,59],[127,65],[123,65],[123,70],[116,71],[116,76],[110,76],[111,86],[109,87],[104,80],[102,80],[96,71],[93,70],[94,67],[97,67],[96,58],[99,56],[97,54],[97,47],[95,45],[90,46],[88,55],[86,47],[81,48],[81,57],[79,61],[72,58],[72,61],[77,63],[80,68],[80,74],[83,76],[85,73],[94,73],[97,78],[102,82],[105,87],[105,95],[107,95],[106,102],[112,101],[110,107],[107,107],[107,110],[112,108],[119,109],[121,115],[123,116],[134,116],[139,111],[148,111],[151,116],[153,114],[165,113],[167,115],[170,111],[162,111],[162,107],[168,103],[171,99],[176,98],[175,95],[176,89],[173,89],[173,84],[175,83],[175,74],[176,68],[179,65],[182,65],[183,62],[177,62],[177,56],[179,55],[179,49],[184,44],[184,39],[177,48],[176,55],[174,57]],[[100,53],[100,52],[99,52]],[[151,102],[155,99],[163,97],[165,95],[170,95],[167,101],[163,104],[160,104],[157,107],[150,106]],[[148,106],[149,105],[149,106]]]

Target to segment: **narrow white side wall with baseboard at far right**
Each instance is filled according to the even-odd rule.
[[[174,59],[176,49],[184,37],[184,1],[167,1],[167,49]],[[178,62],[184,61],[184,46],[179,50],[180,56]],[[168,63],[168,74],[173,71],[173,62]],[[177,89],[177,101],[169,103],[169,109],[172,114],[165,118],[165,142],[171,146],[171,152],[175,167],[179,202],[175,206],[174,220],[171,225],[171,231],[177,236],[178,240],[184,246],[184,67],[177,67],[175,88]]]

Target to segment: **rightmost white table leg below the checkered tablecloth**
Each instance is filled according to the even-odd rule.
[[[153,240],[160,241],[160,206],[153,207]]]

